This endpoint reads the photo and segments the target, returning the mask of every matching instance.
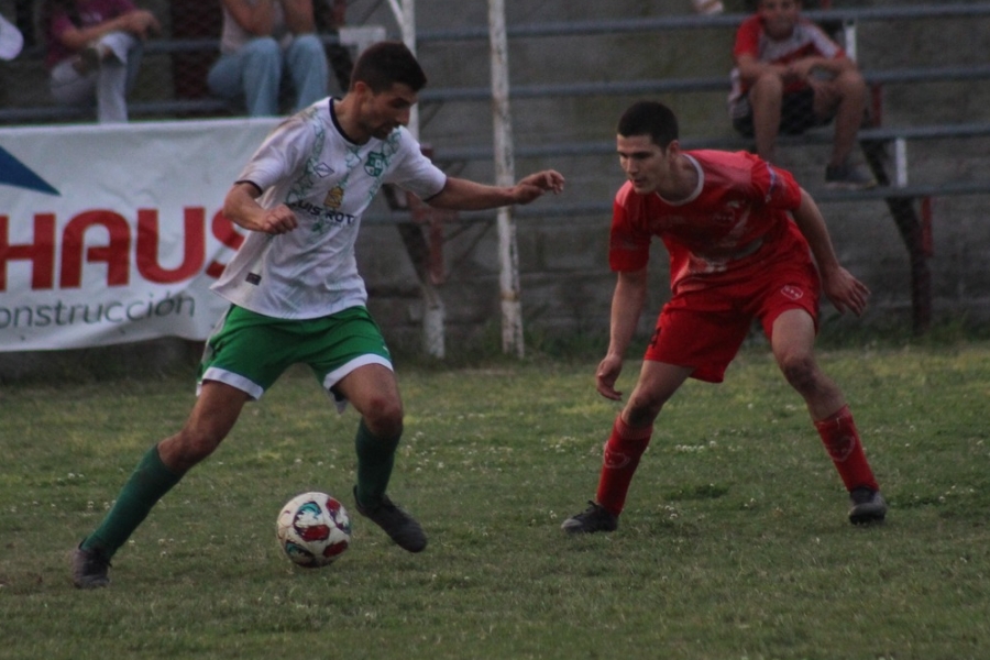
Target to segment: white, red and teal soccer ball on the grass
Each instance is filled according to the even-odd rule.
[[[278,544],[300,566],[318,569],[351,543],[351,519],[343,505],[326,493],[302,493],[282,507],[275,526]]]

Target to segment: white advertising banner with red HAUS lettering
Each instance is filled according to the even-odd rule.
[[[0,351],[206,339],[223,197],[275,122],[0,129]]]

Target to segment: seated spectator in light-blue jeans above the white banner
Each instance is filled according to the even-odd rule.
[[[294,110],[328,96],[329,67],[315,33],[312,0],[220,0],[220,58],[210,68],[210,91],[246,106],[251,117],[279,113],[284,70],[296,94]]]

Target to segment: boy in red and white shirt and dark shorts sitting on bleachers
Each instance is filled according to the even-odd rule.
[[[739,26],[733,125],[755,138],[759,156],[773,162],[779,132],[800,134],[835,120],[826,184],[873,186],[873,178],[849,162],[866,112],[866,82],[842,46],[800,11],[800,0],[759,0],[757,13]]]

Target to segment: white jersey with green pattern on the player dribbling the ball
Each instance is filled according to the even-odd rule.
[[[265,208],[285,204],[299,226],[278,235],[248,232],[211,288],[257,314],[312,319],[366,302],[354,242],[382,184],[427,199],[447,176],[404,128],[385,140],[350,142],[332,99],[323,99],[276,128],[238,180],[263,190]]]

